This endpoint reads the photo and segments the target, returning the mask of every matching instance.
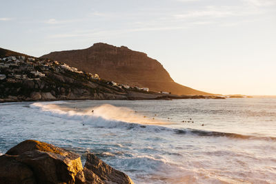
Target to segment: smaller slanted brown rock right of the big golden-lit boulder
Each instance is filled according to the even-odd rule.
[[[94,154],[87,154],[86,164],[84,168],[97,174],[105,183],[133,183],[128,175],[124,172],[113,169]]]

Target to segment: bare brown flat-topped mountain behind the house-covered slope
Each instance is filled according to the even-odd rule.
[[[153,92],[210,95],[175,83],[157,60],[125,46],[95,43],[83,50],[50,52],[41,58],[62,61],[79,70],[97,73],[102,79],[149,88]]]

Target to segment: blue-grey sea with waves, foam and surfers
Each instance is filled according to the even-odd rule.
[[[276,183],[276,99],[0,103],[0,153],[26,139],[135,183]]]

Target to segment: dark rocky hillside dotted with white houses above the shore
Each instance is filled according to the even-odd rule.
[[[62,62],[26,57],[0,50],[0,102],[79,99],[218,99],[217,96],[177,96],[147,92],[100,79]],[[114,81],[114,80],[112,80]]]

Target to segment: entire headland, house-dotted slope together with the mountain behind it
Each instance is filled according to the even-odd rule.
[[[105,43],[40,58],[0,48],[0,87],[0,102],[222,99],[175,83],[144,53]]]

